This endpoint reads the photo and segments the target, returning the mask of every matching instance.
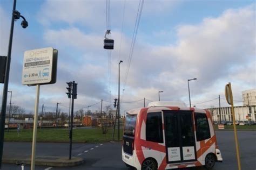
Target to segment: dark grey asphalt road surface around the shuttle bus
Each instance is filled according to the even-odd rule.
[[[224,161],[215,164],[213,170],[238,169],[235,155],[235,144],[233,131],[217,131],[218,145]],[[256,131],[238,131],[240,144],[242,169],[256,169]],[[67,156],[69,144],[63,143],[38,143],[37,155]],[[29,157],[31,154],[31,143],[4,143],[4,158],[6,157]],[[41,167],[36,169],[126,169],[121,159],[120,143],[102,144],[73,144],[72,154],[85,160],[83,165],[76,167]],[[21,169],[12,164],[3,164],[2,169]],[[30,165],[25,167],[30,169]],[[205,168],[192,168],[203,170]]]

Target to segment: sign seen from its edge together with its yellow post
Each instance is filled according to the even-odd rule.
[[[238,138],[237,138],[237,127],[235,125],[234,103],[233,103],[231,83],[228,83],[225,86],[225,96],[226,96],[227,103],[231,105],[231,113],[233,117],[233,127],[234,127],[234,138],[235,138],[235,150],[237,151],[237,164],[238,164],[238,169],[241,170],[239,144],[238,144]]]

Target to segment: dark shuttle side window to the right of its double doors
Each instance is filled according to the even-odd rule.
[[[211,137],[210,128],[206,114],[196,113],[196,130],[197,130],[197,141],[205,140]]]

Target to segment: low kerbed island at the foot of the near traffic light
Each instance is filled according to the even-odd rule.
[[[5,164],[16,164],[16,162],[23,162],[26,165],[31,164],[31,158],[3,158],[3,163]],[[55,166],[55,167],[67,167],[67,166],[77,166],[84,163],[83,158],[72,157],[69,160],[68,157],[36,157],[35,165],[40,166]]]

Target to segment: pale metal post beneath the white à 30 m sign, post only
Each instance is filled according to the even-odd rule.
[[[36,86],[36,102],[35,102],[34,128],[33,128],[33,141],[32,141],[32,155],[31,155],[31,170],[35,170],[39,93],[40,93],[40,85],[37,84],[37,86]]]

